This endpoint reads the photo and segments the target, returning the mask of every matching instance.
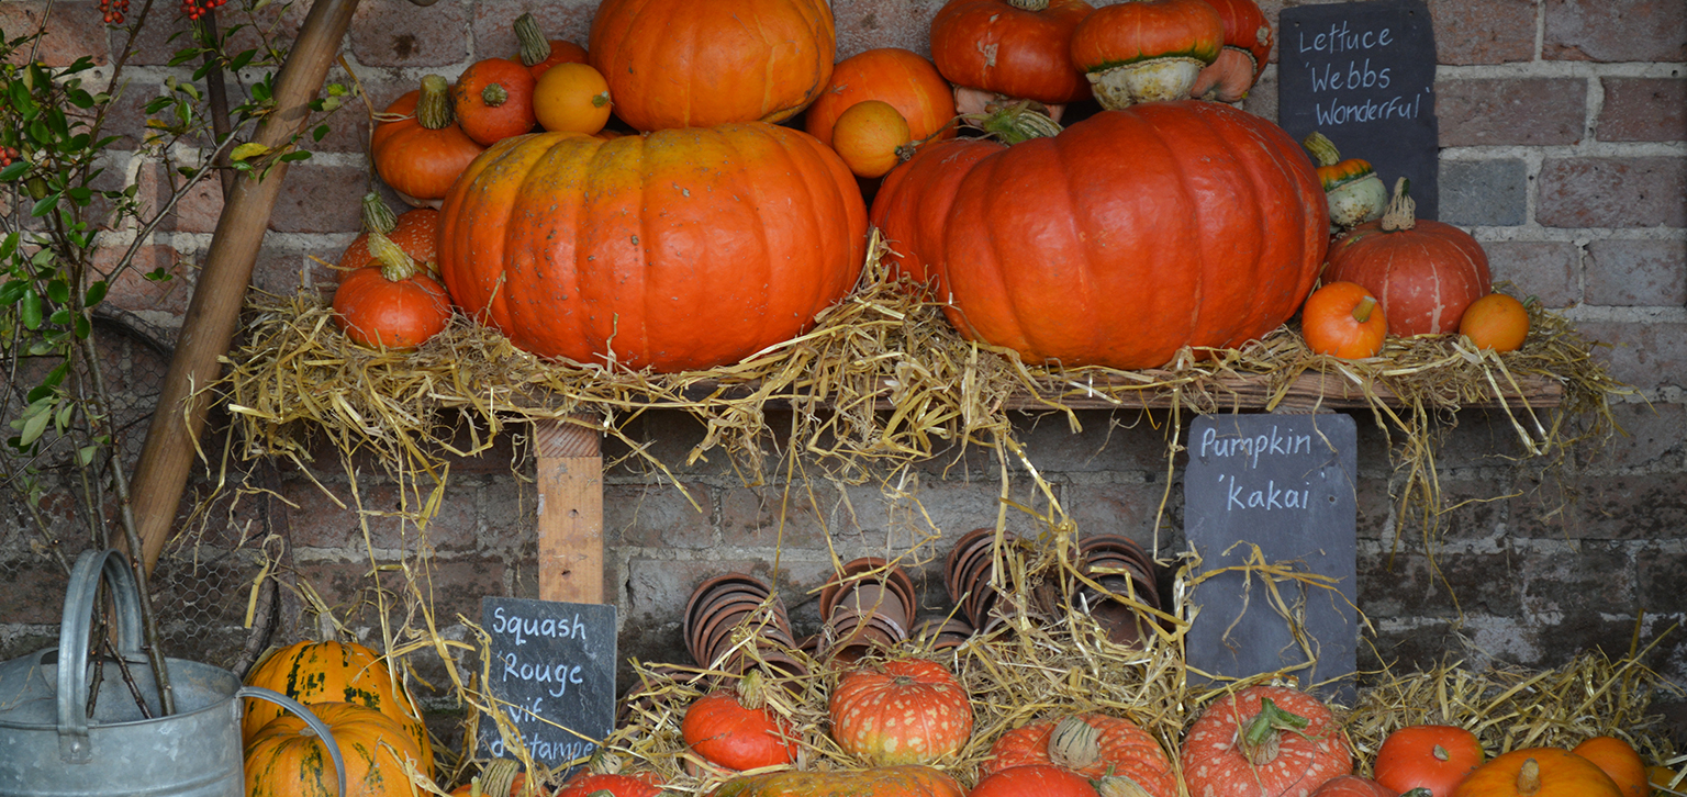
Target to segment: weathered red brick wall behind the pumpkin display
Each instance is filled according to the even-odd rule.
[[[282,39],[297,29],[299,5],[265,12]],[[1297,3],[1264,5],[1275,19],[1282,5]],[[13,34],[42,7],[3,3],[0,27]],[[513,52],[508,25],[523,10],[533,10],[552,35],[584,42],[592,7],[585,0],[531,8],[516,0],[444,0],[417,8],[407,0],[364,0],[344,56],[380,108],[422,74],[450,78],[476,57]],[[838,0],[838,56],[879,45],[924,52],[938,7],[938,0]],[[1643,640],[1687,620],[1679,586],[1687,578],[1687,5],[1431,0],[1431,10],[1441,61],[1442,221],[1483,241],[1496,280],[1513,281],[1611,344],[1603,357],[1613,376],[1640,393],[1614,408],[1626,436],[1582,450],[1554,470],[1515,460],[1520,452],[1505,418],[1459,413],[1439,467],[1446,494],[1464,504],[1434,549],[1456,603],[1432,575],[1422,541],[1395,539],[1387,443],[1368,416],[1358,416],[1360,595],[1378,629],[1368,655],[1372,662],[1420,662],[1453,652],[1478,664],[1550,666],[1591,645],[1621,654],[1638,617]],[[52,15],[49,62],[84,52],[108,61],[106,51],[118,39],[94,24],[93,2],[59,0]],[[167,76],[181,74],[164,66],[175,49],[165,44],[172,29],[152,30],[128,72],[132,84],[118,110],[123,130],[138,130],[140,106],[162,91]],[[336,69],[331,79],[348,76]],[[1269,67],[1247,108],[1274,118],[1275,96],[1275,67]],[[342,113],[317,157],[294,165],[255,285],[290,292],[329,278],[310,258],[332,259],[358,227],[366,126],[356,113]],[[138,182],[142,195],[159,195],[155,167],[130,158],[132,150],[132,138],[120,142],[111,168]],[[148,256],[177,261],[175,283],[164,290],[128,286],[113,300],[143,320],[175,324],[218,209],[219,190],[206,184],[155,234]],[[1080,435],[1061,421],[1024,420],[1032,460],[1086,529],[1151,541],[1166,479],[1161,431],[1137,418],[1083,413],[1081,420]],[[908,531],[908,505],[886,504],[872,487],[840,492],[813,484],[793,492],[783,548],[776,549],[783,484],[744,487],[719,457],[682,467],[700,435],[685,416],[651,415],[634,435],[676,465],[702,511],[649,473],[607,473],[606,580],[623,610],[626,655],[683,655],[678,610],[705,575],[747,568],[773,576],[778,556],[778,583],[798,623],[811,629],[818,618],[808,590],[828,571],[830,551],[842,558],[901,551],[918,539]],[[484,593],[536,593],[533,495],[530,484],[509,472],[515,453],[499,448],[452,470],[430,558],[447,618],[457,610],[472,617]],[[315,477],[344,499],[344,477],[332,458],[324,462]],[[531,475],[531,465],[518,472]],[[919,499],[940,529],[926,559],[941,556],[967,529],[992,522],[997,480],[987,458],[970,453],[957,465],[945,455],[916,472]],[[283,473],[282,494],[299,504],[287,512],[299,576],[331,603],[358,600],[369,585],[369,554],[356,517],[297,472]],[[1024,484],[1016,485],[1016,495],[1031,500]],[[1179,495],[1174,489],[1172,527],[1161,534],[1167,551],[1181,544]],[[1566,495],[1576,500],[1566,504]],[[378,479],[369,480],[364,499],[371,507],[398,500]],[[19,517],[8,514],[0,538],[13,566],[34,556]],[[405,538],[413,531],[396,526],[376,524],[373,532],[378,559],[413,544]],[[941,588],[933,580],[924,585],[926,603],[936,608]],[[368,623],[368,612],[361,617]],[[39,639],[42,622],[35,613],[0,612],[0,642],[13,649],[7,655]],[[1665,640],[1650,664],[1687,682],[1687,635]]]

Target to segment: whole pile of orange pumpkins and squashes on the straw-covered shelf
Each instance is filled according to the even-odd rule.
[[[530,17],[516,34],[518,54],[380,116],[376,170],[425,207],[366,212],[334,302],[353,339],[412,347],[461,312],[552,361],[725,366],[845,297],[869,224],[892,278],[1038,364],[1157,367],[1277,329],[1319,280],[1331,209],[1356,229],[1324,280],[1361,290],[1309,308],[1316,350],[1456,332],[1490,292],[1468,234],[1365,221],[1368,165],[1326,148],[1314,170],[1225,104],[1272,47],[1253,0],[950,0],[930,61],[833,64],[823,0],[604,0],[589,47]]]

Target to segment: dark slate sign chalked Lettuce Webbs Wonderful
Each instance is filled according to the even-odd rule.
[[[1393,190],[1412,180],[1419,219],[1437,206],[1436,30],[1424,0],[1301,5],[1277,17],[1277,123],[1321,131]]]

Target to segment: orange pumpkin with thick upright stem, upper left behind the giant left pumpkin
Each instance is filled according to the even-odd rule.
[[[439,130],[422,126],[415,118],[420,94],[410,91],[388,104],[388,115],[407,118],[381,121],[369,135],[375,170],[410,204],[444,197],[457,175],[484,150],[455,121]]]

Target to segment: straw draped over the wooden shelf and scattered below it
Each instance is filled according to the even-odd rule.
[[[1070,571],[1063,556],[1076,529],[1053,489],[1022,455],[1011,423],[1012,409],[1063,416],[1078,430],[1078,416],[1068,406],[1075,396],[1090,403],[1100,398],[1120,408],[1159,399],[1169,404],[1164,426],[1169,472],[1184,413],[1228,411],[1243,404],[1270,408],[1284,399],[1297,376],[1338,374],[1363,391],[1375,421],[1388,433],[1400,473],[1395,482],[1400,517],[1415,519],[1426,546],[1432,548],[1442,511],[1436,438],[1456,423],[1456,409],[1498,401],[1523,448],[1554,462],[1572,443],[1609,435],[1608,403],[1628,393],[1593,361],[1589,340],[1539,307],[1532,307],[1525,347],[1503,356],[1473,350],[1456,339],[1424,337],[1390,339],[1378,359],[1338,361],[1311,354],[1299,334],[1284,327],[1235,350],[1186,349],[1174,362],[1151,372],[1036,367],[1011,352],[962,340],[938,305],[886,278],[879,263],[882,251],[876,239],[860,286],[825,310],[811,332],[707,372],[633,372],[617,367],[612,357],[590,364],[545,362],[461,317],[417,350],[371,350],[337,334],[332,310],[319,297],[300,293],[253,298],[245,344],[228,357],[228,376],[206,389],[234,418],[238,445],[226,455],[283,457],[309,473],[312,441],[322,436],[341,453],[356,500],[354,457],[373,453],[403,485],[400,514],[423,532],[418,551],[427,548],[427,521],[445,490],[445,458],[484,452],[499,435],[521,435],[535,421],[579,423],[617,438],[626,445],[626,457],[663,473],[682,490],[668,465],[626,433],[628,425],[649,409],[685,411],[705,425],[707,433],[687,462],[724,452],[746,484],[764,482],[778,463],[786,490],[801,489],[793,487],[798,482],[827,479],[876,480],[894,494],[909,463],[943,447],[994,448],[1004,484],[1011,462],[1036,480],[1048,502],[1048,512],[1038,521],[1046,529],[1044,543],[1053,544],[1039,546],[1034,561],[1021,554],[1009,558],[1007,578],[1014,586],[1009,596],[1021,610],[1011,630],[975,639],[943,655],[970,687],[977,713],[973,741],[945,762],[963,782],[972,782],[978,760],[1000,731],[1068,711],[1129,716],[1174,752],[1181,730],[1216,694],[1193,687],[1183,664],[1183,630],[1193,617],[1193,607],[1184,603],[1193,585],[1189,561],[1178,578],[1176,612],[1161,615],[1162,629],[1145,650],[1113,645],[1085,615],[1051,615],[1046,607],[1024,605],[1041,578],[1061,568]],[[1264,401],[1238,396],[1237,377],[1264,386]],[[1560,382],[1559,408],[1545,413],[1527,401],[1506,401],[1506,394],[1525,393],[1518,386],[1522,377]],[[783,450],[768,428],[766,409],[773,406],[795,409],[790,443]],[[1004,495],[999,527],[1007,511]],[[1164,551],[1156,554],[1166,556]],[[476,645],[440,635],[452,622],[464,622],[472,632],[479,629],[467,618],[434,617],[425,600],[427,558],[376,564],[371,549],[371,566],[400,570],[408,586],[405,595],[376,591],[386,650],[395,657],[435,652],[447,662],[454,693],[479,708],[477,716],[488,716],[489,706],[474,687],[476,677],[459,671],[459,664],[466,666],[464,654]],[[1270,563],[1260,561],[1255,568],[1269,581],[1306,578]],[[309,585],[304,590],[307,602],[332,615],[321,598],[310,600]],[[329,617],[329,622],[337,620]],[[906,652],[919,654],[916,649]],[[685,753],[676,709],[698,694],[705,681],[722,674],[673,666],[639,664],[638,669],[646,684],[644,699],[636,703],[611,748],[621,753],[623,763],[655,768],[687,794],[719,782],[722,773]],[[822,730],[832,676],[822,667],[813,672],[784,684],[790,689],[769,693],[776,709],[800,728]],[[1609,681],[1613,677],[1616,681]],[[1471,674],[1447,664],[1424,674],[1377,674],[1373,681],[1378,686],[1366,689],[1350,725],[1355,748],[1366,760],[1387,731],[1431,716],[1481,718],[1483,741],[1493,750],[1574,741],[1577,735],[1598,731],[1631,738],[1655,755],[1668,753],[1648,735],[1652,719],[1643,713],[1660,681],[1633,657],[1616,664],[1584,657],[1559,674]],[[1608,681],[1620,686],[1598,686]],[[1577,684],[1596,686],[1577,691]],[[1584,691],[1594,699],[1586,699]],[[504,721],[501,711],[489,716]],[[805,733],[803,750],[808,767],[855,765],[818,731]]]

